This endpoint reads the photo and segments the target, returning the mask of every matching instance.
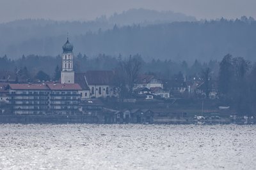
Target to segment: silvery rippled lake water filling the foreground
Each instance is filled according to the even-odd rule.
[[[0,169],[255,169],[255,127],[1,124]]]

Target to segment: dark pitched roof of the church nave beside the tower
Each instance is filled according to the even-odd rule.
[[[114,71],[86,71],[88,85],[113,85]]]

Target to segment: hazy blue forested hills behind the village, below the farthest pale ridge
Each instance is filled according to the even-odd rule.
[[[227,53],[255,60],[256,55],[256,22],[253,18],[131,26],[116,26],[100,20],[19,22],[0,25],[0,55],[6,54],[10,58],[23,54],[58,55],[67,32],[74,44],[74,52],[90,57],[99,53],[113,56],[139,53],[144,59],[194,61],[221,60]],[[35,23],[26,27],[23,22]]]

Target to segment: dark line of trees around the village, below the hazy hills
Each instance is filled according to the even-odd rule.
[[[204,83],[206,98],[209,97],[214,85],[220,104],[232,106],[239,113],[256,111],[256,64],[243,57],[228,54],[221,61],[195,60],[193,64],[188,64],[185,60],[174,62],[153,59],[146,62],[139,54],[125,57],[100,54],[90,58],[79,53],[74,58],[74,69],[80,73],[88,70],[114,70],[115,85],[120,96],[132,94],[132,87],[139,74],[154,74],[163,80],[174,80],[179,83],[198,78]],[[23,55],[20,59],[11,60],[4,55],[0,57],[0,73],[6,71],[15,74],[17,82],[57,81],[60,79],[61,57]],[[6,79],[6,74],[4,76],[0,79]]]

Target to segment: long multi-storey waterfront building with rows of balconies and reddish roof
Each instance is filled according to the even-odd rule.
[[[10,103],[14,114],[74,114],[78,111],[78,84],[10,84]]]

